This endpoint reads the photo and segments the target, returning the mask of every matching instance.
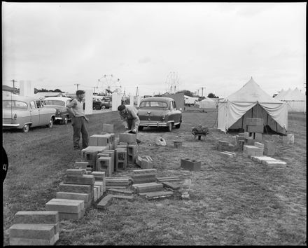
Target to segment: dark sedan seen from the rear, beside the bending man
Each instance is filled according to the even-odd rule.
[[[144,127],[165,127],[169,132],[172,128],[180,128],[182,112],[176,109],[176,102],[170,97],[146,97],[141,99],[138,109],[140,125]]]

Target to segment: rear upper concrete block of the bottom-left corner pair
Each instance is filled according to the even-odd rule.
[[[57,211],[19,211],[15,214],[13,223],[22,224],[55,224],[59,222]]]

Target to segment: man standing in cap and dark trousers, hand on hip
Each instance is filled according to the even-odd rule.
[[[76,98],[73,99],[69,104],[66,105],[67,111],[73,116],[71,118],[71,125],[73,125],[73,149],[78,150],[80,132],[83,137],[83,149],[88,146],[89,135],[87,134],[87,128],[85,126],[85,121],[88,122],[89,119],[83,113],[83,97],[85,97],[85,92],[83,90],[76,91]]]

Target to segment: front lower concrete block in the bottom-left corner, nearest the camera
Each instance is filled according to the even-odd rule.
[[[40,237],[42,240],[50,240],[55,236],[55,226],[44,224],[13,224],[9,228],[11,237],[24,237],[35,239]]]

